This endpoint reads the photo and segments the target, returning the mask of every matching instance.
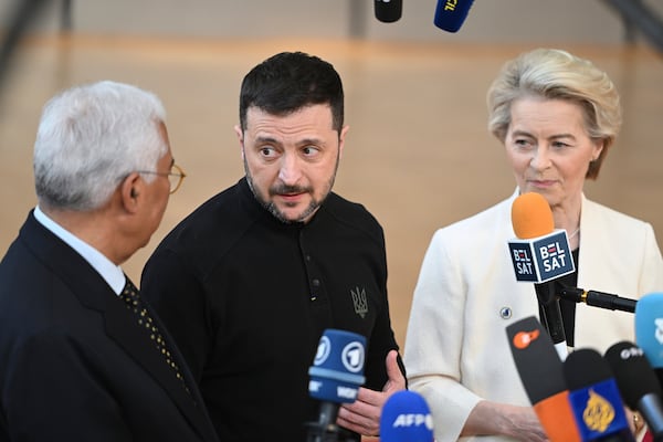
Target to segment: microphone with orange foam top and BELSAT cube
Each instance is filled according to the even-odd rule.
[[[512,223],[517,238],[508,241],[508,249],[516,281],[534,283],[541,323],[564,358],[568,350],[556,280],[576,271],[567,232],[555,229],[548,201],[536,192],[514,200]]]

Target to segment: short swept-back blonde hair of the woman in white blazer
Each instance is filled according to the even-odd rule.
[[[601,155],[586,175],[596,179],[622,123],[619,93],[608,74],[588,60],[555,49],[536,49],[508,61],[487,93],[488,130],[499,141],[504,143],[511,125],[512,103],[526,96],[580,106],[587,134],[603,141]]]

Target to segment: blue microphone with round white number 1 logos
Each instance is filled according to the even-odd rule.
[[[308,422],[307,441],[336,441],[344,432],[337,424],[341,403],[352,403],[366,380],[366,338],[356,333],[327,328],[308,369],[308,394],[320,401],[316,422]]]

